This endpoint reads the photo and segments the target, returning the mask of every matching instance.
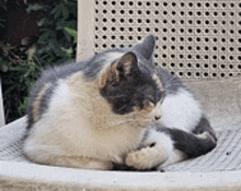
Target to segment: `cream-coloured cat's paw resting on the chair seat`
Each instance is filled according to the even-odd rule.
[[[125,158],[125,164],[139,170],[152,169],[168,159],[165,151],[153,147],[144,147],[140,151],[129,153]]]

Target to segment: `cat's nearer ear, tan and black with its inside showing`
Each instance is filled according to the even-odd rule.
[[[137,56],[131,51],[122,56],[102,74],[101,87],[104,87],[107,82],[116,84],[131,79],[131,74],[139,71],[137,62]]]

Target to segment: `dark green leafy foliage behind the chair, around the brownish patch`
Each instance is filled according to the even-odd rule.
[[[13,62],[7,57],[10,49],[1,44],[0,72],[7,122],[25,115],[27,97],[39,71],[76,58],[77,0],[28,0],[26,11],[36,12],[41,25],[35,53],[27,61]],[[0,25],[4,25],[0,17]]]

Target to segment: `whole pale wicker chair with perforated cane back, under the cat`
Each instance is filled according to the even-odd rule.
[[[78,1],[77,60],[157,37],[154,61],[204,106],[217,147],[165,172],[91,171],[31,164],[21,153],[26,118],[0,129],[0,190],[238,190],[241,188],[241,2]]]

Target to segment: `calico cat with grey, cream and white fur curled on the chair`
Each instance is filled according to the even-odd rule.
[[[42,72],[28,100],[24,154],[35,163],[161,169],[216,146],[183,83],[152,62],[153,36]]]

